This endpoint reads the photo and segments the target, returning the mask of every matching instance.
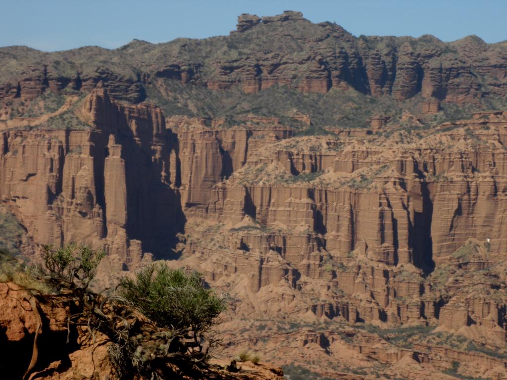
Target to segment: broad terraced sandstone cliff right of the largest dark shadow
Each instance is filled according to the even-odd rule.
[[[249,150],[208,207],[184,205],[184,260],[173,264],[240,299],[235,315],[422,321],[504,347],[505,116],[477,114],[409,143],[289,137]],[[390,365],[405,357],[376,345],[360,352]],[[408,354],[437,372],[452,361],[504,366],[464,349],[417,350]]]

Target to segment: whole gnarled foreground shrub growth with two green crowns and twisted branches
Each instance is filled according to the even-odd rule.
[[[225,298],[199,274],[162,264],[121,279],[119,294],[95,293],[90,284],[104,255],[87,246],[45,246],[44,264],[27,272],[51,290],[34,294],[65,308],[69,333],[81,325],[88,326],[90,339],[106,335],[110,361],[122,379],[169,378],[174,367],[207,368],[208,350],[216,342],[209,330],[225,309]]]

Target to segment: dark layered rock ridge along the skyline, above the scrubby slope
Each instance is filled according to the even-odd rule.
[[[56,53],[2,48],[0,63],[9,70],[0,79],[0,99],[32,99],[47,90],[89,91],[101,84],[117,99],[139,102],[146,99],[147,87],[166,78],[212,90],[240,87],[246,93],[287,85],[305,93],[353,88],[397,100],[422,94],[426,111],[434,112],[438,101],[505,95],[506,54],[505,44],[486,44],[477,36],[451,43],[431,35],[355,37],[331,22],[312,24],[299,12],[242,14],[236,32],[203,41],[153,45],[134,40],[116,50]],[[12,60],[23,63],[8,65]]]

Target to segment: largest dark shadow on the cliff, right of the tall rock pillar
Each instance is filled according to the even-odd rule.
[[[120,125],[128,125],[127,120]],[[178,258],[180,254],[173,249],[178,242],[176,235],[184,232],[186,218],[179,193],[163,180],[171,136],[139,126],[135,134],[130,128],[122,128],[117,139],[125,160],[129,239],[141,241],[142,251],[156,258]]]

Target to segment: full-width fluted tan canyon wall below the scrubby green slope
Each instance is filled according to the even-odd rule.
[[[292,294],[270,312],[442,325],[464,313],[504,336],[497,280],[493,300],[431,276],[505,261],[505,113],[399,143],[298,137],[276,118],[166,121],[103,88],[74,112],[89,129],[2,132],[2,200],[35,243],[92,244],[123,269],[183,254],[260,300],[285,284],[259,312]]]

